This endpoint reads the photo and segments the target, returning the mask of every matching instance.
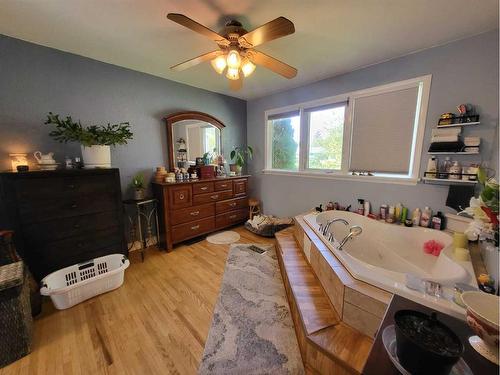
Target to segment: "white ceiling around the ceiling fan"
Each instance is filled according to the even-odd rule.
[[[183,13],[220,30],[278,16],[296,32],[261,46],[298,69],[287,80],[258,67],[241,91],[204,63],[171,65],[216,44],[169,20]],[[2,0],[0,33],[207,90],[250,99],[498,27],[498,0]]]

